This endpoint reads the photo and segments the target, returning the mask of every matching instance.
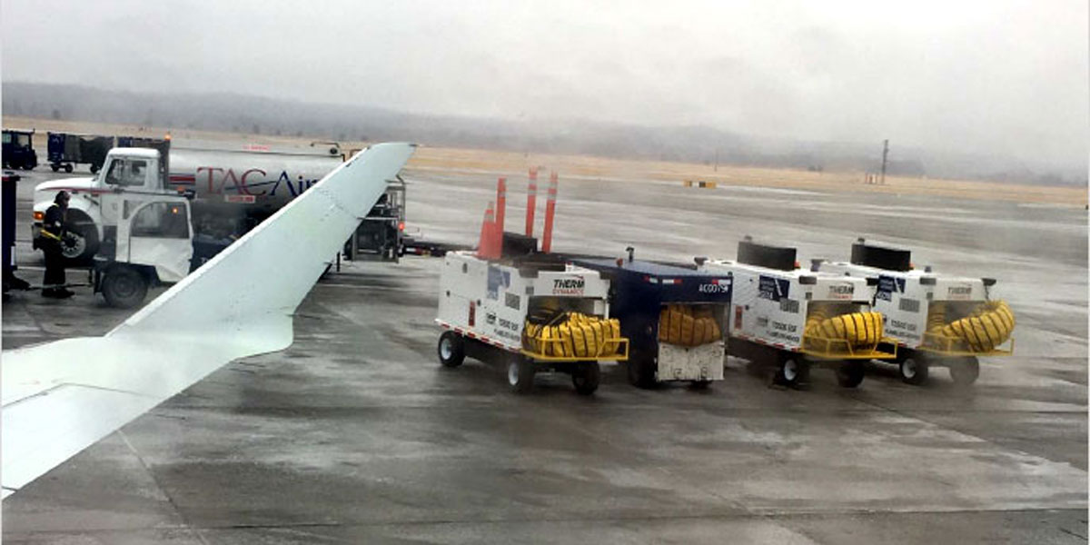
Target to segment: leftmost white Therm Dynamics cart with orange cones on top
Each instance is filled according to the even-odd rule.
[[[475,252],[448,252],[439,276],[436,323],[439,363],[457,367],[465,356],[501,362],[511,390],[524,393],[534,375],[571,375],[576,391],[593,393],[600,362],[628,359],[629,341],[609,317],[609,281],[596,271],[550,254],[556,178],[549,189],[542,251],[528,233],[505,233],[506,181],[497,207],[485,213]],[[533,209],[531,201],[528,209]]]

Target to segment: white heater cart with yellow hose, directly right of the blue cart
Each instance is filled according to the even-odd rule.
[[[855,388],[863,362],[896,356],[883,351],[882,315],[872,312],[875,279],[802,270],[794,247],[738,243],[736,261],[697,258],[698,270],[731,275],[727,351],[772,363],[774,380],[806,382],[812,365],[828,366],[837,383]]]

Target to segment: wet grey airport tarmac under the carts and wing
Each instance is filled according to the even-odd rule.
[[[506,174],[518,230],[523,182]],[[53,177],[21,186],[28,280],[29,189]],[[495,173],[407,178],[410,230],[475,240]],[[860,235],[899,244],[917,266],[997,278],[1016,353],[983,360],[969,389],[874,364],[858,389],[815,371],[784,390],[730,359],[708,390],[639,390],[607,365],[590,398],[566,375],[514,396],[494,365],[438,365],[436,259],[350,264],[301,305],[289,350],[225,366],[7,499],[3,541],[1087,541],[1083,209],[561,174],[558,210],[555,247],[570,252],[729,258],[752,234],[809,263],[847,257]],[[14,294],[4,348],[130,314],[77,291]]]

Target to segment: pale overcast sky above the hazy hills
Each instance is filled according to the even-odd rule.
[[[4,81],[1086,166],[1086,0],[0,0]]]

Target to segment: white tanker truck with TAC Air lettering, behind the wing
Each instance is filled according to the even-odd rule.
[[[159,152],[154,164],[140,152],[146,148]],[[336,144],[324,144],[317,149],[320,152],[305,148],[280,152],[257,145],[214,149],[172,145],[169,138],[142,141],[138,147],[116,147],[110,149],[96,175],[55,180],[35,187],[34,247],[38,247],[46,209],[61,190],[71,194],[62,242],[64,257],[72,264],[88,263],[102,241],[111,238],[112,233],[106,232],[108,222],[104,222],[104,217],[111,217],[116,210],[104,210],[101,198],[109,193],[185,194],[191,197],[194,240],[214,241],[206,245],[226,247],[344,159]],[[391,184],[391,191],[403,192],[403,183]],[[388,195],[384,203],[403,207],[403,195]],[[403,208],[396,211],[384,209],[383,220],[395,226],[400,234]],[[373,221],[364,223],[374,228]],[[373,239],[353,237],[353,241],[362,244],[367,240]],[[388,240],[385,243],[390,244]],[[374,253],[396,258],[400,238],[392,244],[395,250],[384,247]]]

